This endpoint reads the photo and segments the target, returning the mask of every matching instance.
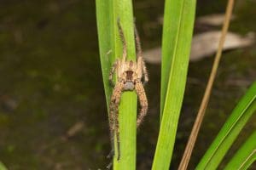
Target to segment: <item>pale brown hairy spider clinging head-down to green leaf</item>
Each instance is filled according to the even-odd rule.
[[[126,60],[127,48],[125,42],[124,32],[118,20],[119,36],[123,44],[122,59],[116,59],[113,63],[112,69],[109,73],[109,81],[113,84],[113,73],[116,71],[118,80],[113,88],[111,96],[109,111],[110,133],[112,141],[112,154],[114,155],[114,133],[117,139],[117,160],[120,158],[120,144],[119,144],[119,102],[121,94],[125,91],[135,90],[141,105],[141,110],[137,116],[137,127],[143,122],[143,117],[146,116],[148,111],[148,99],[146,97],[143,84],[148,82],[148,71],[146,69],[143,52],[141,48],[140,38],[138,36],[137,28],[134,26],[136,48],[137,48],[137,61]]]

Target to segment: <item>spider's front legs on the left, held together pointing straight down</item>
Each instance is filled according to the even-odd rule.
[[[123,82],[117,82],[114,89],[113,94],[111,96],[110,103],[110,130],[111,130],[111,140],[112,140],[112,148],[114,150],[114,133],[116,134],[117,139],[117,160],[120,158],[120,142],[119,142],[119,102],[122,94],[122,90],[124,88]]]

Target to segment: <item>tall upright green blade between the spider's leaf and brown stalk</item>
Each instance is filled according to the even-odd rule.
[[[189,65],[195,0],[166,0],[161,68],[160,133],[152,169],[168,169]]]

